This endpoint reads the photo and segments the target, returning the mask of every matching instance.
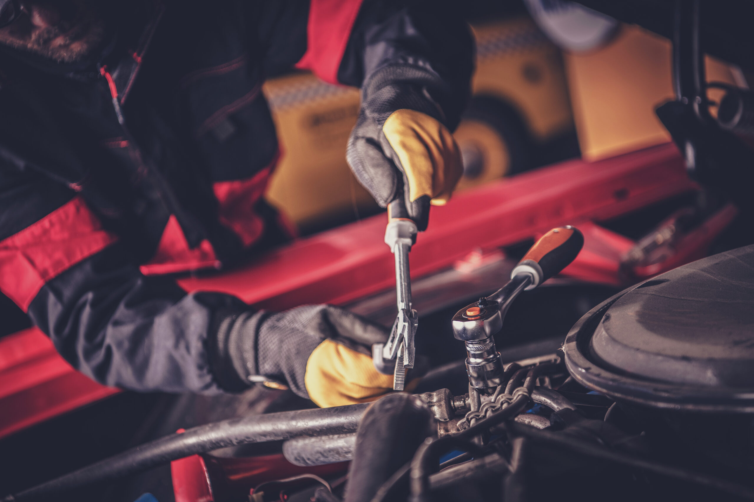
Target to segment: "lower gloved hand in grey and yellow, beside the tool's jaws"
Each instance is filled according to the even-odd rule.
[[[287,385],[323,408],[364,403],[393,388],[372,364],[372,344],[388,329],[345,309],[311,305],[272,314],[246,311],[222,319],[212,366],[222,387]]]

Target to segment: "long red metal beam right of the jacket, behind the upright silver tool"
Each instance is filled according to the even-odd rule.
[[[412,277],[449,267],[477,248],[518,243],[557,225],[609,219],[694,188],[673,144],[502,179],[432,209],[428,231],[411,250]],[[244,268],[179,284],[189,291],[229,292],[264,308],[345,303],[394,285],[384,233],[385,216],[375,216],[296,240]]]

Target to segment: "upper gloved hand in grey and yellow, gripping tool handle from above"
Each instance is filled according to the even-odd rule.
[[[381,207],[403,188],[406,209],[420,231],[427,228],[430,201],[446,204],[463,174],[458,145],[428,90],[440,85],[434,72],[414,66],[375,72],[363,86],[361,112],[346,149],[354,175]]]

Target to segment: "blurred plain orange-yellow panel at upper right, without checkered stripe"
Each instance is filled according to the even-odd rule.
[[[654,109],[675,99],[667,38],[623,26],[611,44],[565,54],[581,155],[589,161],[670,141]],[[706,57],[707,81],[743,84],[740,70]],[[719,99],[721,90],[710,90]]]

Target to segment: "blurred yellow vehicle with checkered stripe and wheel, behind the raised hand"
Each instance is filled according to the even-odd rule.
[[[559,51],[528,18],[474,27],[477,70],[474,94],[497,99],[520,115],[523,136],[543,142],[569,130],[572,115]],[[345,161],[345,145],[359,110],[359,91],[325,84],[298,73],[274,78],[263,87],[277,127],[283,156],[267,197],[307,230],[323,222],[372,213],[376,204]],[[479,172],[459,189],[504,176],[507,141],[499,128],[480,120],[462,121],[455,133],[464,151],[480,156]]]

